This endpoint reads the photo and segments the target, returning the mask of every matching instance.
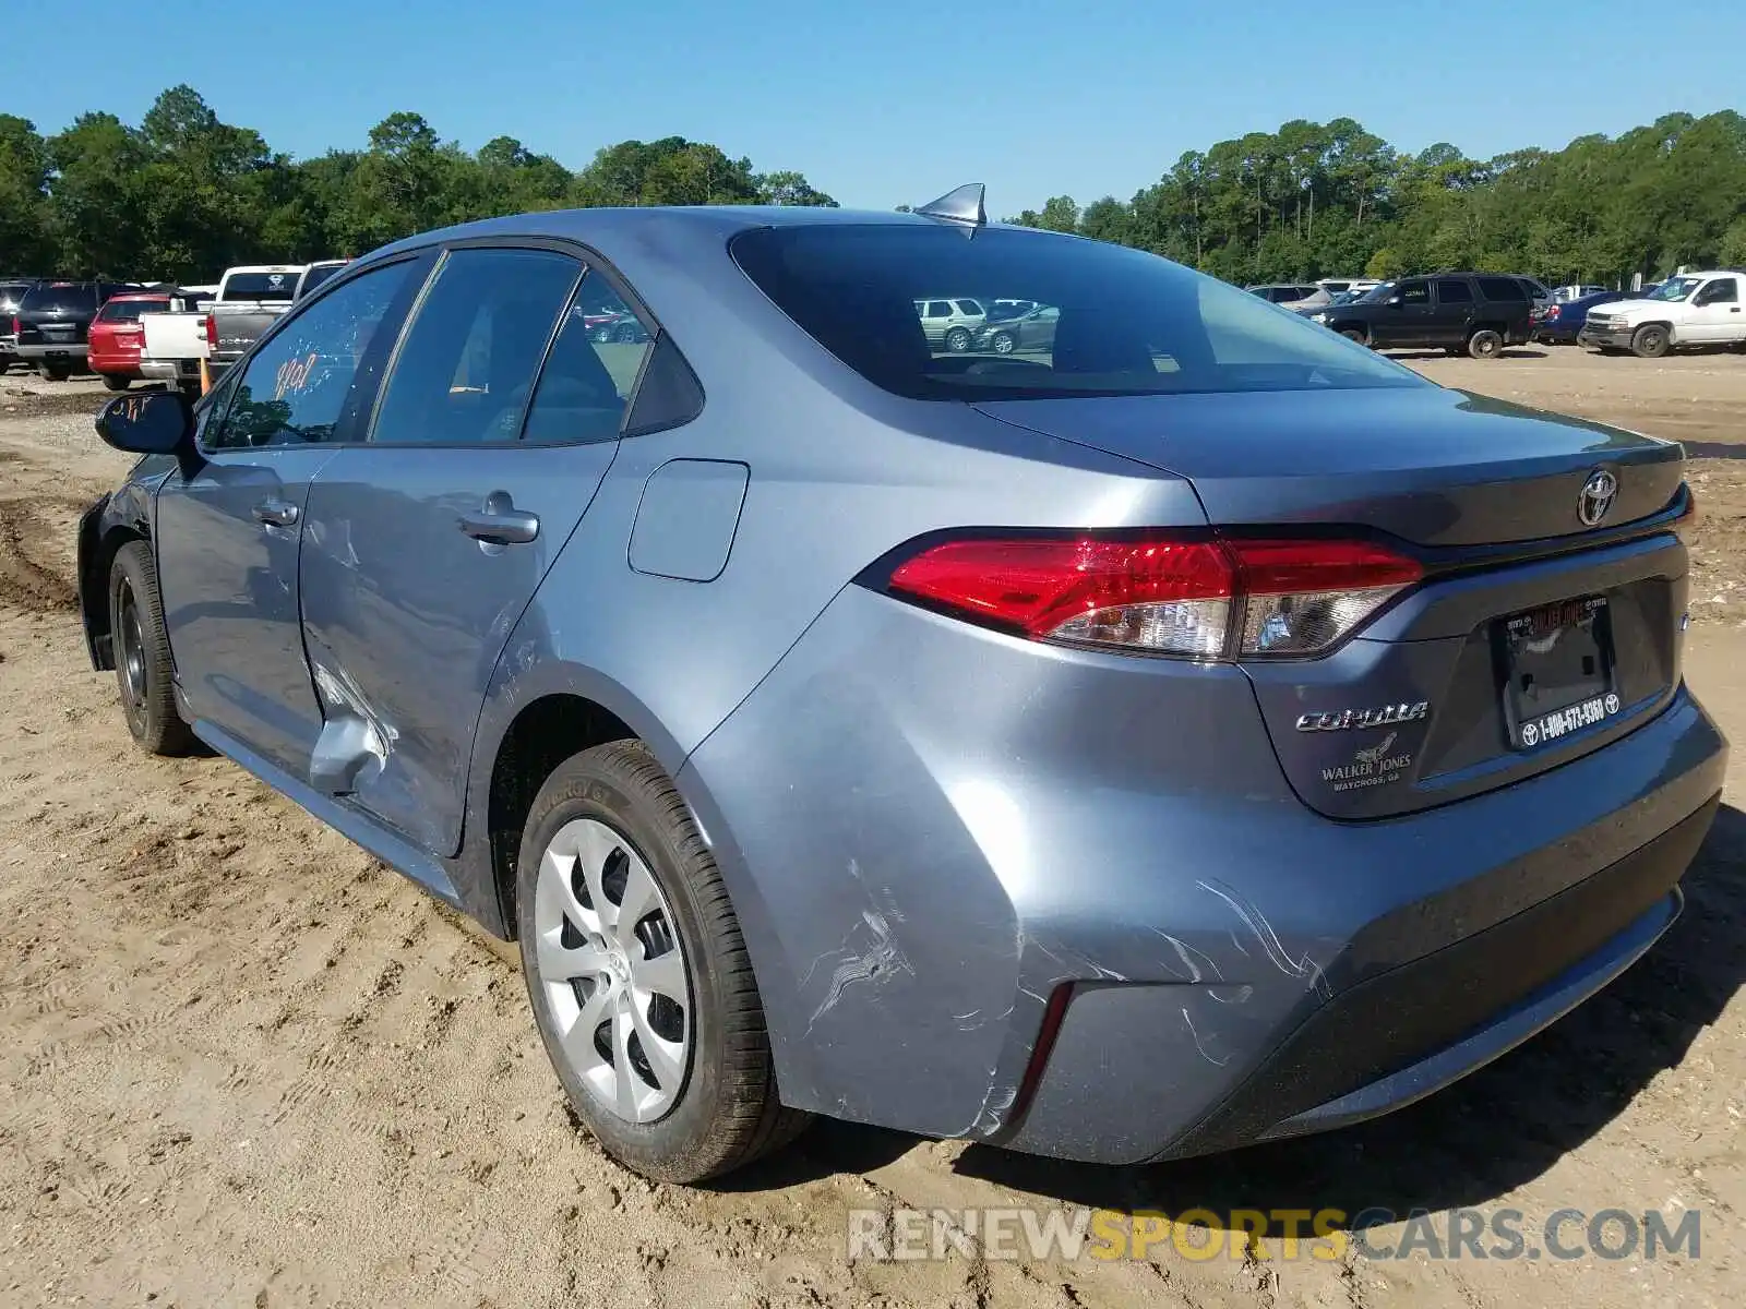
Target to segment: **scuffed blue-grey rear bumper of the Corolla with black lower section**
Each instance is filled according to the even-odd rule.
[[[1673,920],[1725,761],[1680,686],[1528,780],[1336,822],[1234,668],[850,586],[679,785],[786,1103],[1130,1164],[1385,1112],[1552,1021]]]

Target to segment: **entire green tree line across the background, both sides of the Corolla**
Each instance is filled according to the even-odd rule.
[[[571,171],[512,136],[463,150],[417,113],[386,117],[365,150],[295,161],[220,122],[189,86],[136,127],[86,113],[42,136],[0,113],[0,272],[196,281],[526,209],[760,202],[835,204],[801,173],[760,173],[683,136],[620,141]],[[1014,222],[1234,283],[1447,267],[1627,283],[1746,264],[1746,119],[1667,113],[1488,161],[1447,143],[1395,150],[1353,119],[1299,119],[1189,150],[1130,201],[1056,195]]]

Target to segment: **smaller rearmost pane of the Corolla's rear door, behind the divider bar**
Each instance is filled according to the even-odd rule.
[[[650,349],[648,332],[630,305],[611,283],[590,272],[552,342],[522,440],[541,445],[616,440]]]

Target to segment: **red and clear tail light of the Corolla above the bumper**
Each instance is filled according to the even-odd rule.
[[[1034,641],[1184,658],[1310,658],[1423,576],[1369,541],[985,536],[903,560],[887,590]]]

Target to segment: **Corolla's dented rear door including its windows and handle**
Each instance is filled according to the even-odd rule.
[[[436,855],[461,845],[492,668],[606,475],[648,351],[592,342],[604,312],[630,311],[564,248],[447,250],[367,440],[309,494],[311,782]]]

